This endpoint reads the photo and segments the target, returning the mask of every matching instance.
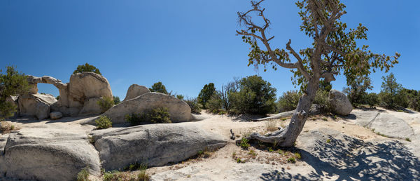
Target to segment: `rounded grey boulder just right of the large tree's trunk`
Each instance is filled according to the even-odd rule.
[[[338,90],[331,89],[328,100],[330,101],[332,112],[336,114],[346,116],[353,110],[349,98]]]

